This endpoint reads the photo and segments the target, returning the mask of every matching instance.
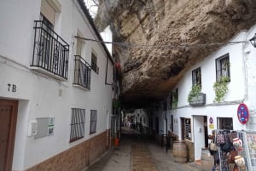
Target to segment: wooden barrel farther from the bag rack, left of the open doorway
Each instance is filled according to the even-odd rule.
[[[185,141],[174,141],[172,156],[176,162],[188,162],[188,148]]]

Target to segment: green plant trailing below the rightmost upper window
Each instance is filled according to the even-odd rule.
[[[221,77],[218,82],[213,84],[215,92],[214,102],[224,101],[225,94],[228,92],[228,82],[230,82],[230,77]]]

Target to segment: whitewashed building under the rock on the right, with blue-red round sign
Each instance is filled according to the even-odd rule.
[[[230,43],[192,66],[171,95],[154,108],[154,130],[158,134],[171,131],[178,140],[185,140],[190,162],[201,159],[201,149],[210,143],[208,134],[214,129],[256,130],[256,48],[249,42],[255,33],[256,26],[241,31]],[[227,93],[223,100],[216,100],[213,85],[221,77],[229,77]],[[201,85],[202,94],[189,102],[195,83]],[[241,111],[247,116],[238,115]]]

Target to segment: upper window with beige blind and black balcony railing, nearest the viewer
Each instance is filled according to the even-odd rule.
[[[67,80],[69,44],[55,32],[60,20],[61,3],[41,0],[39,20],[35,20],[32,69],[50,73],[57,79]],[[47,72],[45,72],[47,71]],[[64,79],[63,79],[64,78]]]

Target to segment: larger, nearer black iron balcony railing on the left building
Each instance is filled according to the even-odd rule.
[[[32,68],[67,80],[69,45],[42,20],[35,20]]]

